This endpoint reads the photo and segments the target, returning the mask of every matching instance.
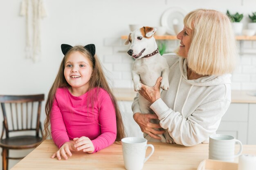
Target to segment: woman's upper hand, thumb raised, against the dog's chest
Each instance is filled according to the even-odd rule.
[[[141,83],[141,89],[139,90],[139,94],[142,95],[145,99],[147,99],[151,104],[154,103],[157,99],[160,98],[160,85],[161,85],[162,77],[157,79],[155,86],[149,87],[145,84]]]

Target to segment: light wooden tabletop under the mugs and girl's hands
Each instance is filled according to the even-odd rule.
[[[151,144],[155,146],[155,152],[144,164],[143,170],[196,170],[203,159],[208,159],[208,144],[191,147]],[[238,149],[237,145],[236,152]],[[45,140],[11,170],[125,170],[121,144],[112,144],[94,154],[73,152],[72,157],[60,161],[50,158],[56,151],[53,141]],[[149,152],[150,149],[147,154]],[[256,145],[244,145],[243,154],[256,155]]]

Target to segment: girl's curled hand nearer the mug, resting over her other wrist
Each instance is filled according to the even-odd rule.
[[[94,151],[94,146],[92,144],[92,141],[88,137],[76,137],[73,139],[76,144],[74,144],[74,147],[76,150],[83,150],[83,152],[92,153]]]

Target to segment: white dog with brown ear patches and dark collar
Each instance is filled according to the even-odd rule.
[[[130,42],[128,54],[135,59],[132,65],[132,80],[134,83],[134,90],[139,91],[141,89],[141,83],[147,86],[154,86],[157,78],[162,76],[161,88],[168,90],[169,81],[169,66],[166,59],[160,55],[157,49],[157,43],[153,35],[156,29],[153,27],[144,26],[131,32],[128,35],[128,39],[125,41],[125,45]],[[150,102],[139,94],[139,107],[141,113],[155,114],[152,109],[149,108]],[[151,119],[152,123],[159,123],[159,120]],[[166,134],[167,133],[167,134]],[[169,134],[166,132],[161,137],[161,142],[166,142],[169,138]],[[166,136],[168,136],[166,138]],[[159,140],[151,138],[148,134],[144,133],[144,137],[151,142],[159,142]]]

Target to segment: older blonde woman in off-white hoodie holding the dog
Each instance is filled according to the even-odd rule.
[[[135,97],[133,117],[149,141],[193,146],[208,142],[229,107],[230,73],[238,54],[229,18],[215,10],[188,13],[177,38],[178,56],[165,55],[169,90],[160,93],[161,77],[153,87],[142,84],[139,93],[155,114],[141,113]]]

